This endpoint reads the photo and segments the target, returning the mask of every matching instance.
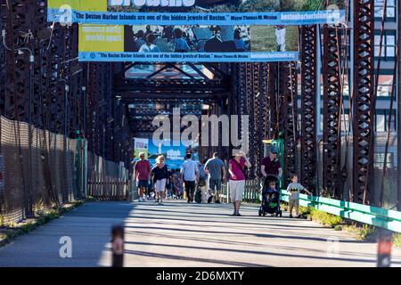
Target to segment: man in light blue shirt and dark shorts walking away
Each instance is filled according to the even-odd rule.
[[[185,161],[181,166],[181,180],[184,181],[184,189],[188,203],[193,202],[193,194],[195,192],[196,183],[199,180],[198,163],[192,160],[192,154],[185,155]]]

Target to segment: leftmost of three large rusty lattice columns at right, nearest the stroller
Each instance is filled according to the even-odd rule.
[[[316,188],[316,26],[302,26],[300,178],[307,189]]]

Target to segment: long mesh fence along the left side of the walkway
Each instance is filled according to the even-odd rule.
[[[125,199],[127,170],[86,141],[0,118],[0,226],[89,196]]]

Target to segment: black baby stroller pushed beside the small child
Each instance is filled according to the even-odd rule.
[[[269,183],[275,182],[274,192],[268,192]],[[275,216],[282,216],[280,209],[280,179],[275,175],[267,175],[262,185],[262,203],[259,208],[259,216],[266,216],[271,214]]]

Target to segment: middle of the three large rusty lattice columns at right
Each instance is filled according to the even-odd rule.
[[[340,45],[336,27],[323,27],[323,189],[340,199]]]

